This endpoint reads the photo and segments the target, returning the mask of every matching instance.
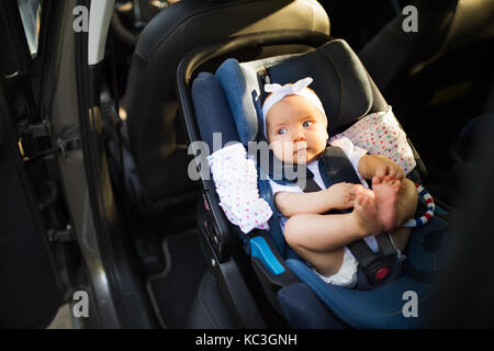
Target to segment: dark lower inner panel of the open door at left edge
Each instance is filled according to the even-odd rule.
[[[46,327],[59,283],[0,87],[0,328]]]

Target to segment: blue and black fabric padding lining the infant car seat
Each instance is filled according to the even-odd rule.
[[[262,72],[266,70],[273,82],[280,83],[306,76],[314,77],[315,83],[318,82],[314,89],[329,112],[329,126],[333,123],[333,131],[339,131],[368,113],[386,107],[379,92],[375,94],[377,89],[358,58],[343,41],[333,41],[315,52],[302,55],[248,64],[228,59],[217,69],[216,75],[200,73],[192,86],[198,127],[201,138],[207,141],[210,147],[213,133],[222,133],[223,144],[237,140],[246,145],[262,137],[262,133],[259,133],[259,115],[263,97]],[[269,183],[260,180],[258,185],[259,195],[276,212]],[[278,292],[278,302],[292,326],[328,327],[343,322],[359,328],[411,328],[418,327],[426,316],[427,304],[434,291],[433,284],[416,278],[438,270],[441,258],[439,253],[444,251],[445,241],[439,237],[450,236],[445,234],[447,224],[440,218],[435,217],[427,226],[415,228],[412,233],[405,254],[408,257],[408,271],[415,275],[405,272],[398,279],[371,291],[349,290],[324,283],[288,247],[276,215],[271,217],[269,225],[270,239],[284,262],[269,253],[270,248],[261,237],[251,239],[250,251],[271,274],[283,272],[284,264],[304,283],[302,285],[305,287],[292,284]],[[402,308],[406,303],[403,296],[407,291],[417,294],[418,317],[406,318],[403,315]],[[318,301],[313,301],[314,295]],[[305,297],[293,304],[290,296]],[[325,307],[321,308],[323,305]],[[321,310],[315,312],[314,308]],[[332,318],[332,314],[336,318]],[[294,316],[305,316],[305,319]]]

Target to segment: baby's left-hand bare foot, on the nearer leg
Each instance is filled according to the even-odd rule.
[[[363,186],[356,188],[356,201],[353,215],[363,235],[379,234],[382,231],[382,223],[379,217],[375,194]]]

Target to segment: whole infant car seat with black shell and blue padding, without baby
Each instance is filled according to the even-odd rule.
[[[194,72],[200,65],[218,55],[228,53],[234,57],[239,49],[287,43],[303,43],[317,48],[242,64],[228,59],[214,75]],[[189,53],[179,65],[177,81],[190,141],[203,140],[213,150],[213,133],[221,133],[222,146],[239,141],[247,149],[248,141],[262,138],[260,106],[266,76],[278,83],[314,77],[311,88],[318,93],[327,112],[330,136],[369,113],[385,111],[384,99],[348,44],[341,39],[321,44],[321,37],[311,33],[291,32],[282,36],[262,33]],[[195,143],[191,148],[194,155],[201,154]],[[419,165],[416,152],[415,157]],[[424,170],[423,166],[417,167],[411,177],[419,181]],[[204,196],[204,206],[199,212],[202,244],[225,299],[244,326],[259,326],[254,319],[260,309],[251,314],[246,312],[243,306],[246,298],[252,298],[257,305],[267,299],[272,310],[296,328],[420,326],[434,292],[430,281],[445,251],[445,240],[441,240],[448,231],[445,220],[436,216],[426,226],[413,230],[405,251],[407,268],[400,278],[375,290],[350,290],[324,283],[296,257],[285,244],[276,216],[269,220],[269,233],[242,234],[227,222],[214,184],[207,179],[204,176],[201,179]],[[274,208],[267,181],[259,179],[258,188],[259,195]],[[246,260],[250,260],[252,269],[243,264]],[[245,283],[252,293],[243,290],[240,301],[233,282]],[[263,294],[260,297],[259,291]],[[408,299],[411,305],[407,305]]]

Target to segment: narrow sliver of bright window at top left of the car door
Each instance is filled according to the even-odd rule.
[[[37,54],[42,4],[43,0],[18,0],[22,25],[33,58]]]

